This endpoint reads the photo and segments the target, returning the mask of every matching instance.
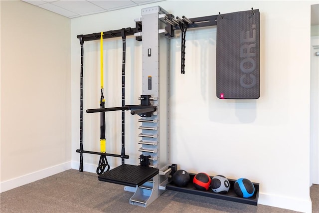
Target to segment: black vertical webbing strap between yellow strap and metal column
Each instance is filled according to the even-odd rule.
[[[123,57],[122,57],[122,107],[125,106],[125,54],[126,54],[126,31],[125,28],[121,31],[123,41]],[[122,110],[122,165],[125,163],[125,110]]]

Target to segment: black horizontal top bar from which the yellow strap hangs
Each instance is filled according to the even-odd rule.
[[[126,35],[134,35],[136,32],[136,28],[124,28]],[[101,32],[96,32],[92,34],[86,34],[86,35],[77,35],[77,38],[80,38],[82,36],[83,41],[93,41],[93,40],[99,40],[101,38]],[[106,38],[116,38],[116,37],[122,37],[122,29],[117,30],[109,30],[106,32],[103,32],[103,39]]]

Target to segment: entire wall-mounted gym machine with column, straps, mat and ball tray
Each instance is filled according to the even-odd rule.
[[[181,30],[181,73],[185,73],[185,36],[191,28],[217,25],[217,69],[216,95],[220,99],[259,98],[259,10],[251,9],[227,14],[187,18],[174,16],[160,6],[142,9],[142,17],[135,20],[135,28],[122,28],[101,33],[78,35],[81,44],[81,83],[80,83],[80,172],[83,171],[83,153],[100,155],[97,168],[100,181],[124,185],[126,191],[134,192],[130,204],[147,207],[165,190],[175,190],[206,197],[218,198],[245,204],[257,205],[259,184],[253,183],[254,195],[240,198],[232,190],[235,180],[229,180],[227,194],[217,194],[196,190],[192,183],[186,187],[176,187],[171,177],[177,165],[170,164],[169,152],[169,54],[170,39],[175,30]],[[125,54],[126,36],[135,35],[142,42],[142,94],[140,105],[125,105]],[[121,154],[85,151],[83,148],[83,61],[84,41],[122,37],[122,106],[104,108],[103,82],[101,82],[100,108],[88,109],[87,113],[101,114],[101,141],[105,140],[105,112],[122,110],[122,151]],[[101,61],[102,61],[101,52]],[[187,68],[187,67],[186,67]],[[102,75],[101,69],[101,75]],[[102,78],[101,78],[102,79]],[[101,80],[102,81],[102,80]],[[124,111],[141,118],[142,131],[138,142],[141,148],[140,165],[125,164],[129,156],[125,153]],[[104,129],[104,134],[103,134]],[[106,156],[119,157],[122,165],[112,170]],[[191,176],[191,180],[193,175]]]

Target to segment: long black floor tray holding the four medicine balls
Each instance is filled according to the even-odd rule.
[[[237,203],[257,206],[258,197],[259,197],[259,184],[258,183],[253,183],[253,185],[255,187],[255,193],[251,198],[240,198],[235,194],[235,191],[234,191],[234,183],[236,180],[228,179],[228,181],[230,183],[229,191],[225,194],[219,194],[219,193],[214,193],[211,189],[209,189],[208,191],[196,190],[195,187],[193,186],[193,178],[194,178],[195,174],[189,174],[189,176],[190,176],[190,181],[186,187],[176,187],[174,185],[174,182],[170,182],[169,184],[166,185],[166,190],[172,190],[172,191],[177,191],[177,192],[183,192],[183,193],[188,193],[188,194],[193,194],[193,195],[200,195],[200,196],[204,196],[204,197],[217,198],[217,199],[221,199],[221,200],[233,201],[233,202],[237,202]],[[210,176],[210,178],[212,178],[212,176]]]

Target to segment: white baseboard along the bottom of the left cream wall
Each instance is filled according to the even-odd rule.
[[[13,178],[8,181],[4,181],[0,183],[0,193],[14,189],[16,187],[20,187],[25,184],[32,183],[34,181],[49,177],[51,175],[55,175],[57,173],[66,171],[71,169],[71,162],[66,162],[63,164],[59,164],[53,167],[49,167],[43,170],[39,170],[27,175],[23,175],[17,178]]]

